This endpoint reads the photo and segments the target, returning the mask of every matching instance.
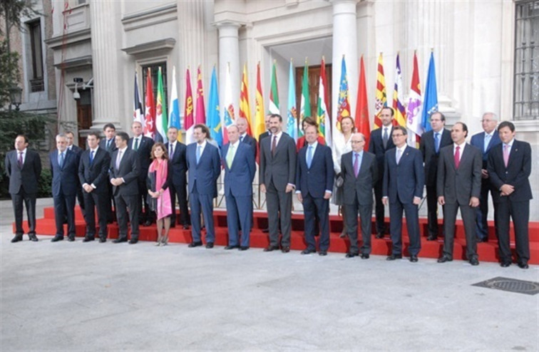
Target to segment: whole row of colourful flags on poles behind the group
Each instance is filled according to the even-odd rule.
[[[419,82],[419,68],[417,56],[414,53],[414,68],[412,70],[411,87],[409,91],[408,101],[404,101],[404,87],[402,85],[402,73],[400,65],[399,53],[396,56],[395,67],[395,82],[393,92],[394,109],[394,125],[401,125],[409,130],[409,145],[419,143],[421,134],[431,130],[430,115],[438,110],[438,97],[436,90],[436,73],[434,68],[434,57],[431,53],[431,58],[428,64],[427,84],[424,95],[424,100],[421,101],[421,84]],[[277,69],[276,64],[272,65],[271,86],[270,86],[270,103],[267,113],[280,113],[279,90],[277,86]],[[218,145],[228,143],[227,126],[235,123],[236,117],[245,118],[247,120],[247,133],[258,139],[259,135],[265,131],[265,107],[262,95],[262,82],[260,79],[260,63],[257,64],[257,88],[255,94],[255,115],[251,115],[250,98],[249,98],[249,82],[247,81],[247,65],[243,67],[242,83],[240,90],[239,111],[235,111],[234,102],[232,101],[232,81],[230,79],[230,66],[227,67],[225,74],[225,101],[220,105],[219,90],[217,86],[217,75],[215,66],[212,69],[212,78],[210,81],[210,98],[207,105],[207,113],[204,103],[204,90],[202,87],[202,73],[200,66],[197,68],[197,90],[196,101],[193,102],[193,92],[191,89],[190,70],[185,74],[185,108],[183,113],[183,125],[180,118],[180,106],[178,100],[178,89],[176,87],[176,69],[173,67],[173,83],[170,90],[170,100],[167,109],[166,97],[163,88],[163,76],[161,69],[158,71],[158,90],[157,96],[153,98],[153,85],[150,68],[146,75],[146,95],[145,105],[143,110],[142,101],[138,93],[138,81],[135,73],[135,92],[133,119],[140,121],[143,124],[144,135],[155,139],[156,141],[168,142],[167,131],[170,127],[185,130],[185,143],[193,143],[193,127],[199,123],[207,125],[210,129],[211,138]],[[325,61],[322,57],[319,76],[319,90],[317,99],[317,110],[312,113],[311,104],[309,101],[309,66],[307,59],[305,61],[303,77],[302,77],[302,94],[300,101],[299,116],[296,111],[296,85],[294,79],[294,66],[292,60],[289,63],[289,87],[288,87],[288,105],[287,114],[283,130],[287,132],[294,140],[301,138],[303,135],[301,121],[304,118],[311,117],[317,121],[319,125],[319,135],[326,140],[327,145],[332,146],[333,135],[342,133],[340,122],[342,118],[354,116],[354,123],[358,132],[361,132],[366,137],[366,147],[369,145],[369,136],[371,133],[371,124],[369,116],[369,106],[366,90],[366,71],[364,58],[361,56],[360,71],[359,71],[359,86],[356,98],[356,111],[351,115],[351,105],[349,99],[349,87],[347,78],[347,67],[344,56],[341,62],[341,77],[339,79],[339,97],[337,103],[337,117],[332,120],[327,110],[328,90],[327,78],[325,70]],[[378,58],[378,66],[376,72],[376,91],[374,105],[374,123],[372,129],[381,127],[379,114],[383,108],[388,106],[386,82],[384,75],[383,57],[380,53]],[[178,140],[181,140],[181,134],[178,134]]]

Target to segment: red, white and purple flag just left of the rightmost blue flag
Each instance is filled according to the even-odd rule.
[[[408,106],[406,107],[406,128],[408,128],[408,145],[417,147],[417,142],[423,134],[421,126],[421,84],[419,83],[419,69],[417,56],[414,52],[414,71],[410,86]]]

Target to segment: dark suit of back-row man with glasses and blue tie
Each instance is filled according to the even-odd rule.
[[[436,152],[433,130],[421,135],[421,141],[419,143],[419,150],[421,150],[421,153],[423,153],[423,160],[425,162],[428,235],[433,237],[438,236],[438,197],[436,193],[436,170],[438,170],[438,155],[440,155],[441,148],[451,144],[453,144],[453,140],[451,140],[451,132],[449,132],[449,130],[446,128],[441,130],[438,152]]]

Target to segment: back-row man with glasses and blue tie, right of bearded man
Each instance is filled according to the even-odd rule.
[[[440,149],[451,145],[451,133],[443,126],[446,117],[436,111],[431,114],[432,130],[421,135],[419,150],[425,162],[425,185],[427,199],[428,241],[438,238],[438,197],[436,194],[436,180],[438,170],[438,155]]]

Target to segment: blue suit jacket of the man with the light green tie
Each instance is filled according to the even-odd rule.
[[[230,195],[252,196],[252,180],[255,180],[255,172],[257,172],[252,147],[248,143],[238,143],[230,168],[227,164],[229,148],[230,143],[222,147],[222,164],[225,165],[225,195],[227,197]]]

